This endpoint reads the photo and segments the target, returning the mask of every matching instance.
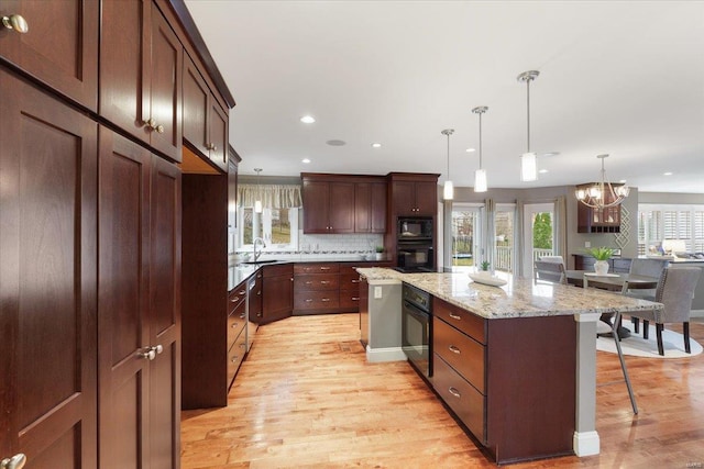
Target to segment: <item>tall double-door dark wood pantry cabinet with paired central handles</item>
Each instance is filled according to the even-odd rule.
[[[163,460],[175,467],[180,457],[180,171],[101,127],[99,187],[101,466]]]

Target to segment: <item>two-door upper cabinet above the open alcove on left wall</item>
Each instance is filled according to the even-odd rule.
[[[194,62],[184,58],[184,139],[223,171],[228,170],[228,113]]]

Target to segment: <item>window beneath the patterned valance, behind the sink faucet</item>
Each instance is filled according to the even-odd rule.
[[[252,248],[254,238],[266,243],[265,250],[298,250],[298,209],[264,209],[254,212],[251,206],[239,211],[241,249]]]

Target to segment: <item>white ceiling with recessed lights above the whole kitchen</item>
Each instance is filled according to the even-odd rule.
[[[237,107],[241,174],[440,172],[490,188],[627,179],[704,193],[704,1],[186,0]],[[526,85],[536,182],[520,182]],[[315,124],[299,118],[311,114]],[[344,146],[326,142],[341,139]],[[383,144],[372,148],[373,142]],[[305,165],[302,158],[312,163]],[[672,176],[663,172],[672,171]]]

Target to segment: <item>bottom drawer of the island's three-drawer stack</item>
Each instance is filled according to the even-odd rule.
[[[432,357],[432,387],[474,436],[486,444],[486,398],[444,362]]]

